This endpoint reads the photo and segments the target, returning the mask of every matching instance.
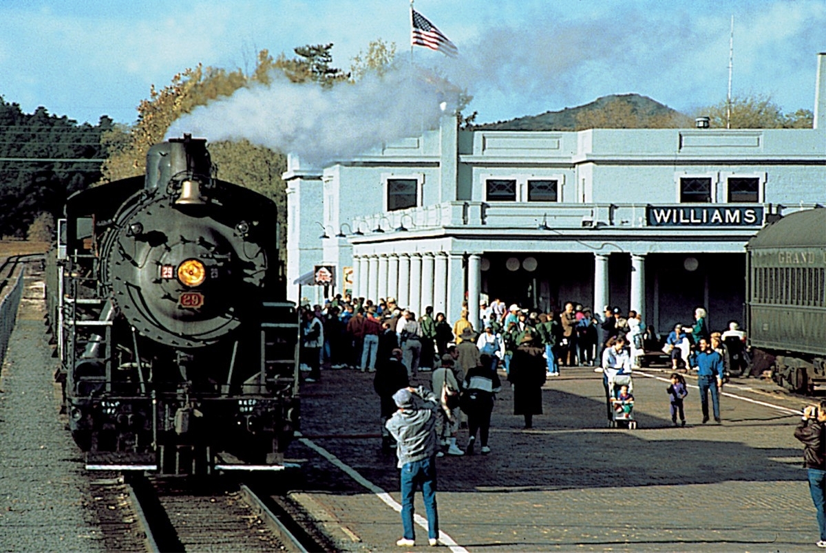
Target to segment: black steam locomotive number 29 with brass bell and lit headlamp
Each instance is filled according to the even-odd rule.
[[[277,470],[299,424],[298,315],[276,207],[206,140],[71,196],[50,291],[56,375],[90,470]]]

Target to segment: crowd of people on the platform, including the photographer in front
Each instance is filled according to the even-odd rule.
[[[468,319],[467,305],[451,324],[431,306],[423,314],[396,304],[394,298],[372,300],[336,295],[322,307],[301,308],[301,366],[308,383],[321,378],[320,366],[375,373],[379,397],[382,451],[396,452],[401,470],[400,546],[414,543],[413,495],[421,488],[430,522],[429,541],[437,543],[434,458],[491,452],[491,413],[501,390],[503,369],[513,390],[514,414],[533,427],[542,414],[542,386],[564,367],[593,366],[607,381],[630,374],[646,352],[670,357],[673,373],[667,393],[675,426],[686,424],[683,400],[688,394],[681,373],[695,371],[700,387],[702,422],[709,420],[708,395],[720,422],[719,391],[731,370],[748,363],[746,336],[736,321],[720,333],[709,333],[705,309],[695,310],[691,325],[676,324],[664,343],[634,310],[624,314],[606,306],[602,316],[567,302],[562,310],[523,309],[501,300],[479,306],[479,320]],[[421,376],[429,373],[428,385]],[[416,382],[415,382],[416,381]],[[418,384],[414,386],[414,382]],[[631,409],[628,386],[607,402],[612,409]],[[677,422],[679,418],[679,423]],[[460,428],[468,428],[464,450],[457,443]],[[478,437],[477,437],[478,436]]]

